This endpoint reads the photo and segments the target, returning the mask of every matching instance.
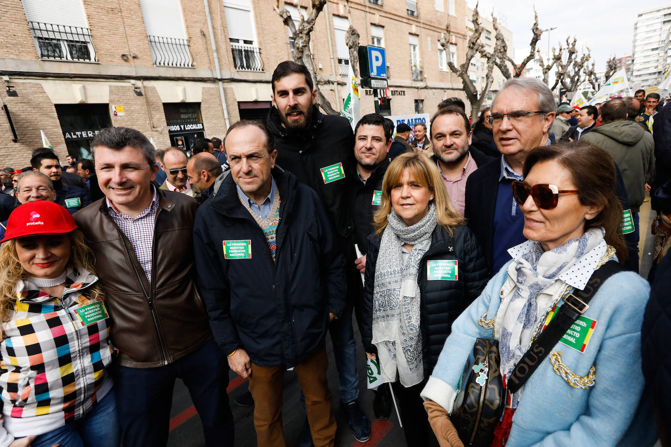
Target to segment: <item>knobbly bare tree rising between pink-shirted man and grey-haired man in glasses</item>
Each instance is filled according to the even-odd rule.
[[[482,101],[486,97],[487,92],[492,86],[492,82],[494,80],[492,73],[494,71],[495,56],[492,53],[486,52],[484,50],[484,44],[480,42],[480,36],[482,35],[483,28],[482,24],[480,23],[480,15],[478,14],[478,3],[476,3],[475,7],[473,8],[471,21],[473,23],[473,34],[470,35],[468,41],[466,42],[468,50],[466,50],[466,58],[464,59],[464,63],[461,64],[459,68],[457,68],[457,66],[454,65],[454,62],[452,62],[449,57],[447,60],[450,70],[459,76],[462,80],[462,84],[464,84],[464,93],[466,93],[466,98],[468,98],[468,102],[470,103],[471,116],[477,117],[480,113],[480,107],[482,107]],[[445,26],[445,34],[440,40],[440,45],[446,50],[446,52],[449,52],[451,34],[452,30],[450,29],[450,20],[448,19],[448,23]],[[485,83],[482,87],[482,90],[479,92],[478,88],[475,86],[473,81],[470,79],[470,76],[468,75],[470,61],[477,54],[480,54],[482,58],[487,60]]]

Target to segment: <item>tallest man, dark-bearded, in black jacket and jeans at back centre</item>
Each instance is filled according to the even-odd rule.
[[[347,119],[323,115],[316,104],[317,90],[307,68],[281,62],[272,73],[273,107],[268,113],[268,128],[277,145],[277,164],[317,192],[338,233],[340,247],[346,251],[354,230],[346,194],[346,172],[354,165],[354,135]],[[346,269],[346,275],[356,278],[353,266]],[[370,429],[358,407],[352,305],[350,300],[343,318],[331,324],[330,332],[340,376],[340,398],[350,428],[363,441],[370,437]]]

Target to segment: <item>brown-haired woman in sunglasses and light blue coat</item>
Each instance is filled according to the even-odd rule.
[[[513,261],[454,322],[422,391],[442,446],[461,445],[448,415],[476,338],[499,342],[506,384],[568,294],[584,290],[607,261],[623,263],[627,255],[615,168],[606,151],[584,141],[536,147],[523,174],[524,182],[513,183],[513,196],[529,240],[509,249]],[[505,390],[506,408],[491,445],[652,446],[656,430],[649,408],[637,410],[649,294],[648,283],[631,271],[603,281],[521,389]]]

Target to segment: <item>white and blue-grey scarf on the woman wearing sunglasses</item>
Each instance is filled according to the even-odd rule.
[[[607,248],[603,235],[605,231],[601,228],[589,229],[581,237],[571,239],[560,247],[550,251],[543,251],[541,243],[528,241],[528,251],[515,259],[515,271],[517,277],[515,282],[517,288],[503,315],[503,327],[501,328],[501,340],[499,342],[499,353],[501,354],[501,374],[510,375],[522,356],[529,348],[529,340],[533,329],[539,318],[537,309],[538,294],[548,288],[554,281],[559,279],[562,273],[568,271],[586,255],[601,259]],[[518,246],[519,247],[519,246]],[[511,250],[515,250],[513,247]],[[592,253],[599,251],[599,253]],[[590,263],[592,271],[595,263]],[[589,278],[592,271],[584,272]],[[521,391],[513,395],[512,407],[516,408],[519,403]]]

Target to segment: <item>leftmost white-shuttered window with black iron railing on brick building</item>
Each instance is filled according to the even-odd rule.
[[[23,0],[40,59],[97,62],[82,0]]]

